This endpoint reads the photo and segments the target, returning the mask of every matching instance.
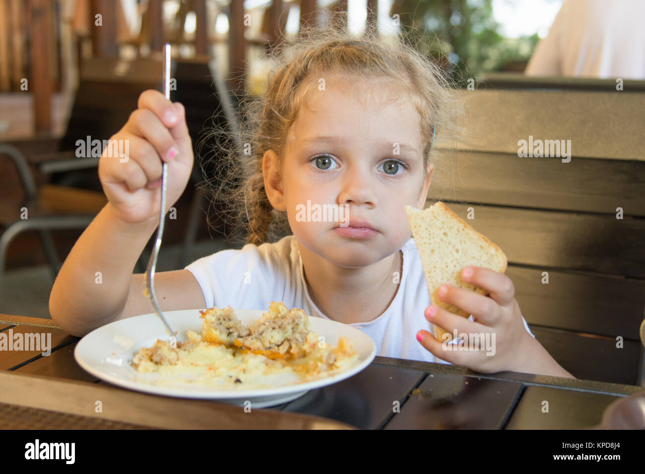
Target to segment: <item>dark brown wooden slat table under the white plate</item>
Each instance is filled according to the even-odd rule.
[[[50,319],[0,314],[0,333],[51,333],[52,353],[0,351],[0,428],[581,429],[638,386],[376,357],[350,379],[266,409],[158,397],[96,379]],[[548,401],[549,411],[542,406]],[[100,410],[99,410],[100,408]]]

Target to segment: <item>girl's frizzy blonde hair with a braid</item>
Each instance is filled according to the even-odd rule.
[[[286,212],[275,210],[266,195],[263,156],[273,150],[279,164],[283,163],[288,130],[299,110],[308,105],[311,86],[317,86],[312,78],[331,74],[378,81],[409,99],[421,122],[424,177],[431,163],[435,127],[436,137],[441,137],[444,145],[459,133],[461,105],[439,66],[406,44],[403,34],[386,41],[378,32],[367,30],[357,37],[337,26],[342,24],[346,25],[346,13],[335,12],[328,26],[301,28],[297,37],[284,39],[268,54],[267,59],[276,66],[268,77],[266,92],[259,98],[244,99],[239,108],[240,118],[246,118],[241,121],[239,143],[250,154],[228,139],[224,146],[211,148],[210,158],[201,157],[203,170],[210,161],[224,160],[217,176],[206,177],[204,172],[204,177],[219,217],[233,228],[246,229],[248,243],[259,245],[291,233]],[[362,93],[358,87],[354,90]],[[226,133],[229,130],[215,128],[201,145]],[[218,205],[224,209],[217,210]]]

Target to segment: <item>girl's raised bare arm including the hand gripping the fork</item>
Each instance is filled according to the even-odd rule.
[[[152,313],[144,275],[134,265],[159,224],[161,175],[168,164],[166,209],[184,192],[193,166],[186,112],[160,92],[147,90],[138,108],[99,160],[108,204],[75,243],[54,282],[52,318],[74,335],[116,319]],[[110,151],[119,150],[119,156]],[[123,150],[123,153],[122,151]],[[161,310],[203,308],[199,284],[188,270],[155,275]]]

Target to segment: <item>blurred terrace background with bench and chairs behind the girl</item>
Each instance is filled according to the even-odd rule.
[[[473,226],[508,255],[524,317],[564,368],[640,384],[643,4],[0,0],[0,313],[50,317],[61,262],[106,204],[101,141],[123,126],[143,90],[161,90],[164,43],[172,44],[171,99],[186,106],[196,163],[208,160],[206,172],[216,175],[221,157],[199,143],[214,125],[236,130],[239,101],[263,94],[272,68],[263,54],[341,10],[342,26],[357,36],[405,32],[464,100],[466,139],[446,158],[448,145],[435,144],[428,204],[441,199],[464,219],[477,209]],[[519,141],[529,137],[570,140],[571,161],[520,157]],[[235,134],[221,139],[235,142]],[[240,230],[215,213],[225,204],[210,201],[195,166],[176,219],[166,219],[157,270],[240,248]],[[135,272],[151,248],[152,239]],[[619,356],[617,335],[626,341]]]

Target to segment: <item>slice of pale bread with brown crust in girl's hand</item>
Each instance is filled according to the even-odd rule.
[[[448,283],[484,295],[486,291],[462,281],[462,270],[465,266],[473,265],[503,273],[506,270],[506,255],[441,201],[424,210],[412,206],[405,206],[405,210],[419,250],[432,304],[468,318],[470,314],[466,311],[439,300],[439,287]],[[439,341],[452,339],[448,331],[437,325],[435,328]],[[447,336],[444,337],[444,334]]]

